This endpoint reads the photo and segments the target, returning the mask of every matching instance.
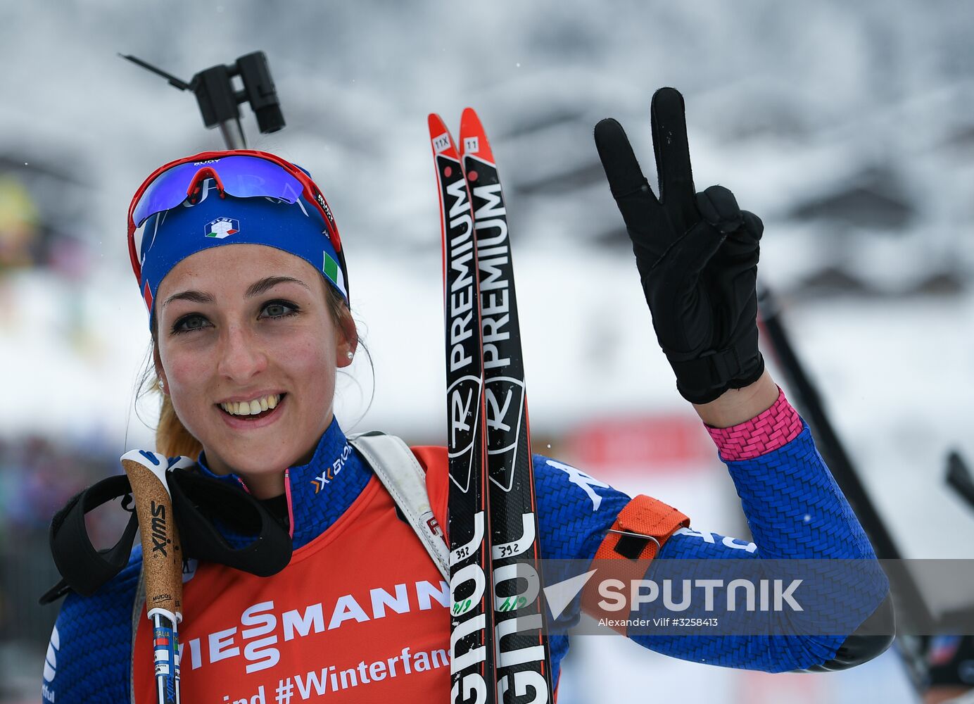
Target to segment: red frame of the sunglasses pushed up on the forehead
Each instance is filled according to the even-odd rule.
[[[338,235],[338,225],[335,223],[335,218],[331,215],[331,208],[328,206],[328,202],[324,200],[324,196],[321,194],[321,189],[315,184],[311,177],[302,171],[300,168],[295,167],[290,162],[284,161],[281,157],[274,154],[269,154],[268,152],[259,152],[254,149],[230,149],[218,152],[201,152],[200,154],[195,154],[192,157],[183,157],[182,159],[177,159],[169,164],[163,165],[157,168],[149,176],[142,181],[142,185],[138,187],[135,191],[135,195],[132,196],[131,204],[129,204],[129,258],[131,259],[131,270],[135,274],[135,280],[141,282],[142,280],[142,266],[138,261],[138,252],[135,251],[135,230],[137,229],[134,221],[132,220],[132,214],[135,211],[135,206],[141,200],[142,195],[145,193],[146,189],[152,185],[152,182],[163,172],[169,170],[172,167],[178,167],[182,164],[192,164],[193,162],[204,162],[210,159],[222,159],[224,157],[236,157],[236,156],[246,156],[246,157],[256,157],[258,159],[263,159],[265,161],[276,164],[283,168],[287,173],[294,176],[298,183],[302,186],[301,195],[305,197],[309,203],[315,204],[318,208],[318,212],[324,218],[325,226],[328,230],[328,240],[331,241],[333,247],[335,247],[335,253],[338,254],[342,261],[342,268],[345,268],[345,255],[342,252],[342,240]],[[201,174],[213,177],[217,184],[220,186],[221,196],[223,194],[223,184],[220,182],[219,176],[216,174],[215,170],[210,166],[200,167],[200,170],[193,176],[190,181],[186,197],[189,198],[192,195],[194,186],[199,181]]]

